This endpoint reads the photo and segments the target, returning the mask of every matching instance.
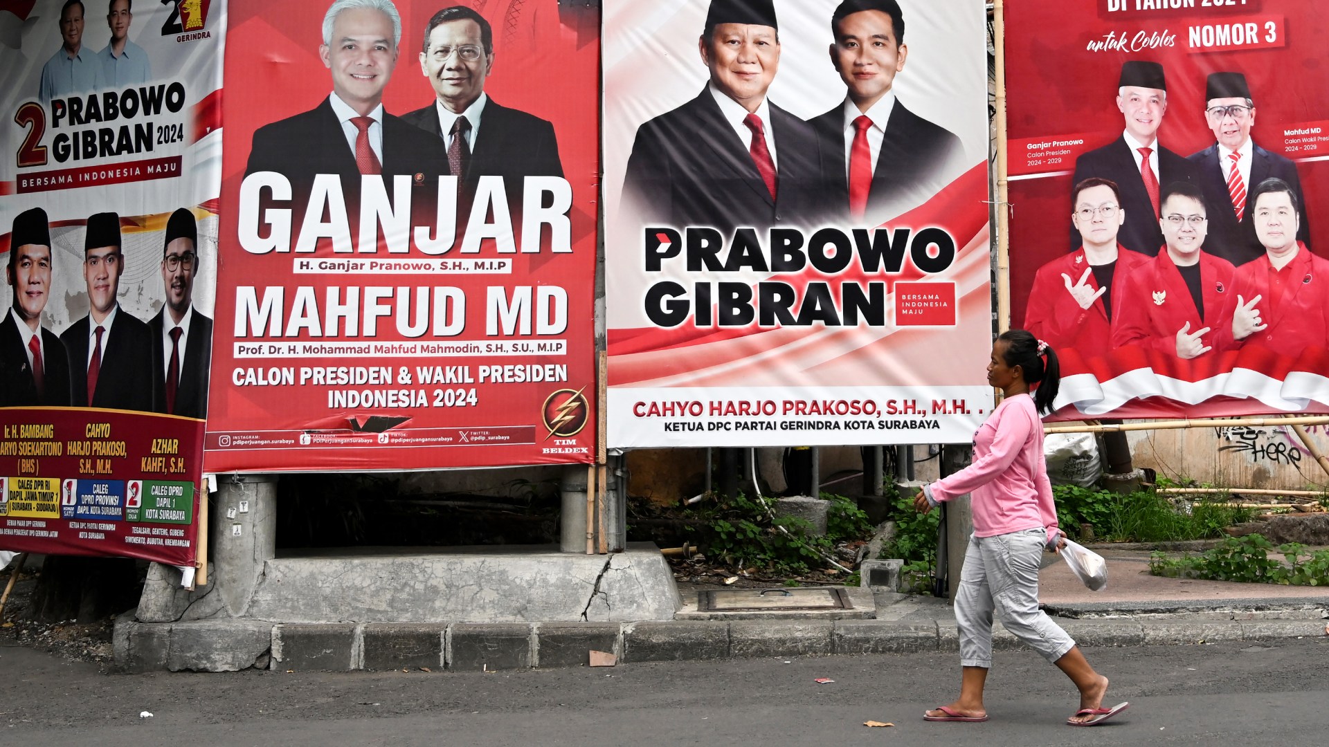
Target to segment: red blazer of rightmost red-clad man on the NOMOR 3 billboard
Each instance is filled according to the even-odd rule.
[[[1269,255],[1237,268],[1235,292],[1247,302],[1264,296],[1255,307],[1268,327],[1237,344],[1257,344],[1284,355],[1300,355],[1309,346],[1329,347],[1329,259],[1310,254],[1301,242],[1297,246],[1297,257],[1282,268],[1288,275],[1277,307],[1269,295]]]

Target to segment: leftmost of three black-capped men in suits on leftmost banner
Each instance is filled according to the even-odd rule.
[[[24,210],[13,219],[5,282],[13,288],[13,307],[0,322],[0,407],[68,407],[65,346],[41,326],[51,298],[51,227],[45,210]]]

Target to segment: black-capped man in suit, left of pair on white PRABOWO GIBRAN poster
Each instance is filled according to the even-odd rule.
[[[812,222],[825,205],[816,133],[766,97],[780,64],[771,0],[711,0],[698,48],[711,80],[637,129],[626,213],[726,231]]]

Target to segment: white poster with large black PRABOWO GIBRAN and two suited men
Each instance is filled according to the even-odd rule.
[[[609,445],[968,443],[982,4],[603,7]]]

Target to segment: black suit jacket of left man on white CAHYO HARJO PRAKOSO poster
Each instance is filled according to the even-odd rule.
[[[708,89],[637,129],[623,178],[626,206],[639,223],[736,226],[815,223],[829,209],[821,189],[821,154],[812,126],[769,105],[775,137],[776,198],[747,146],[724,121]]]

